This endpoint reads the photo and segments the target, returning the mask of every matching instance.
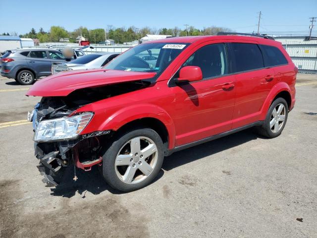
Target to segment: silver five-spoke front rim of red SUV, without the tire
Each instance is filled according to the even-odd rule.
[[[125,143],[115,158],[117,177],[128,184],[148,178],[158,162],[158,148],[145,136],[135,137]]]

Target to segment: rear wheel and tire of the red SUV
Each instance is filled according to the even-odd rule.
[[[286,124],[288,116],[288,105],[285,99],[275,99],[269,107],[264,123],[256,127],[257,132],[267,138],[279,136]]]

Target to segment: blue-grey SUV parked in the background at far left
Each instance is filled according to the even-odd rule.
[[[19,84],[29,85],[40,77],[51,75],[52,62],[56,61],[67,60],[61,52],[53,49],[9,50],[0,57],[0,74],[15,79]]]

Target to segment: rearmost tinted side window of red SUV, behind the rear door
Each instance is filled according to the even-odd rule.
[[[263,52],[265,67],[287,64],[287,60],[283,53],[274,46],[260,45]]]

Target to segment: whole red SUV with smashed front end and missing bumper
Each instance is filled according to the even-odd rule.
[[[297,71],[281,43],[232,34],[151,41],[102,69],[49,76],[26,94],[42,97],[28,115],[38,168],[57,185],[96,165],[112,187],[139,189],[175,151],[253,126],[280,135]]]

